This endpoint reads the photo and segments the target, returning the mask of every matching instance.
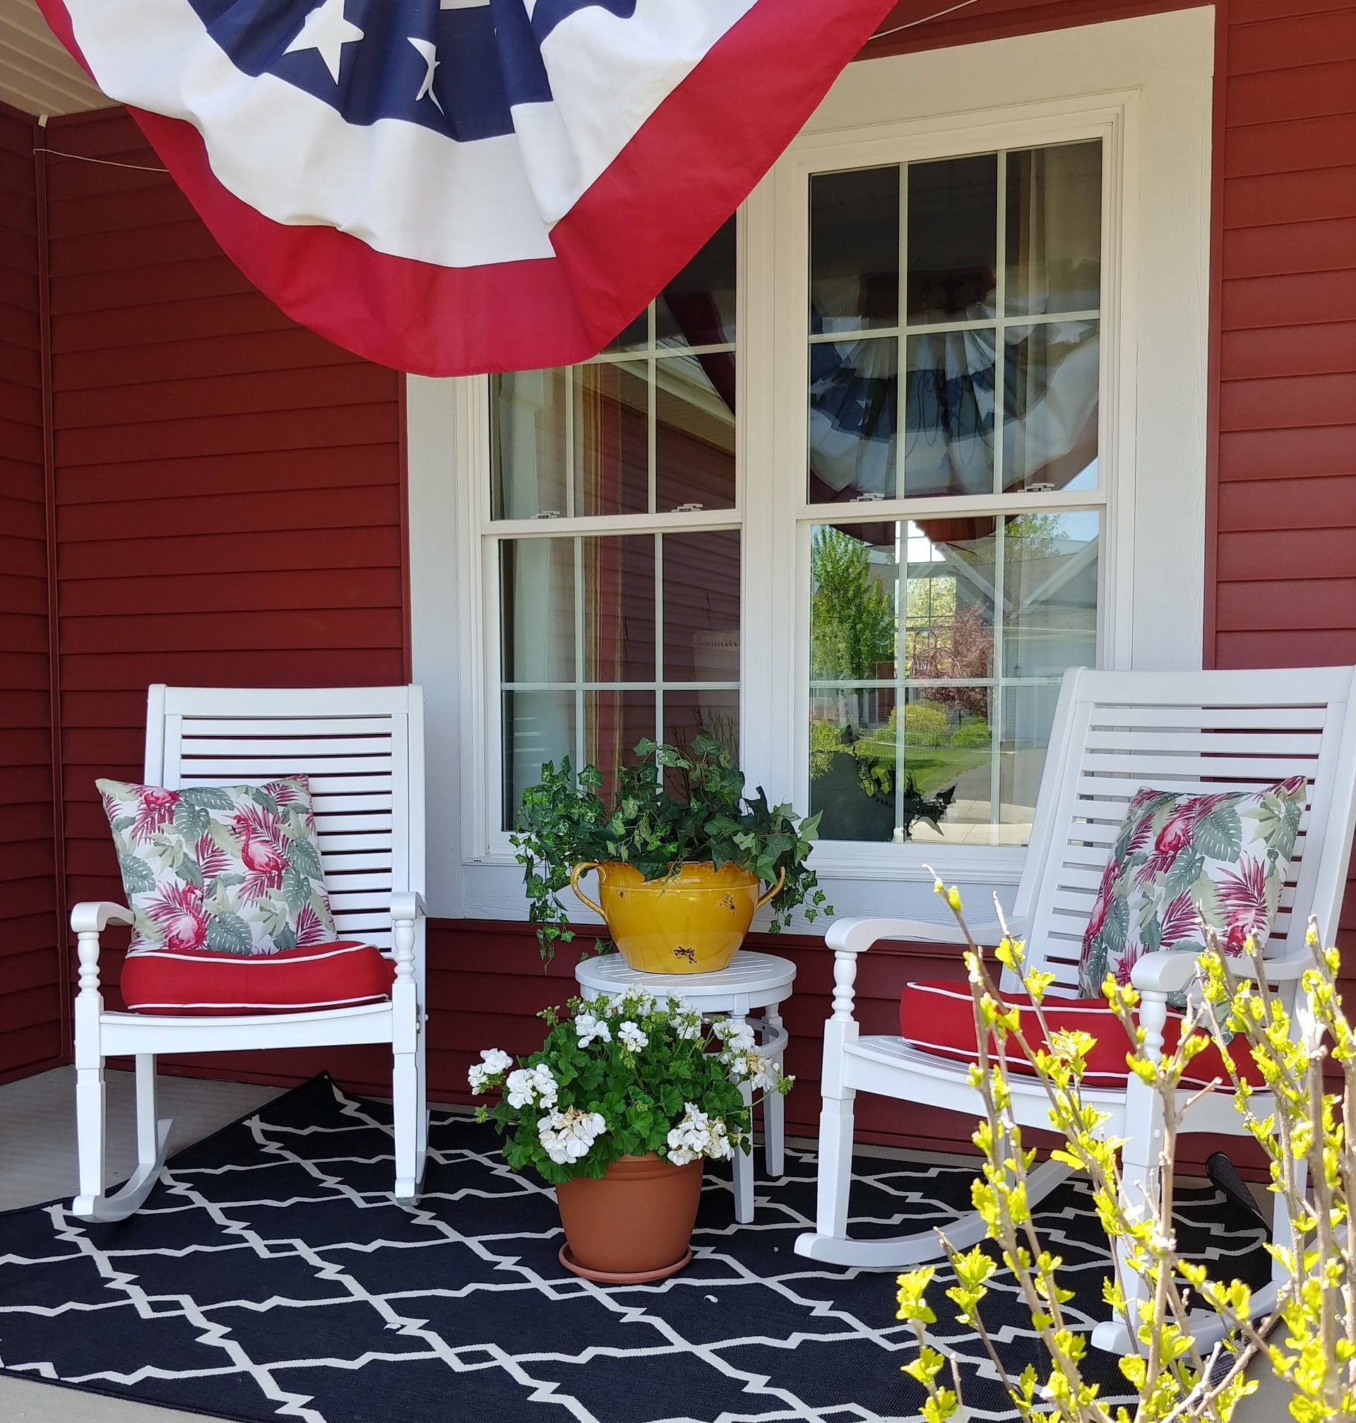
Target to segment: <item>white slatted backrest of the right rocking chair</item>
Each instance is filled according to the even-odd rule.
[[[1077,993],[1083,932],[1131,797],[1262,790],[1291,776],[1309,798],[1266,943],[1299,943],[1310,914],[1332,941],[1356,815],[1352,667],[1066,673],[1017,891],[1027,952]],[[1010,975],[1005,986],[1013,988]]]

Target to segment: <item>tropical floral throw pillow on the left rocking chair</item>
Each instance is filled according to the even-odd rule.
[[[129,953],[277,953],[334,941],[304,776],[176,791],[95,785],[135,915]]]

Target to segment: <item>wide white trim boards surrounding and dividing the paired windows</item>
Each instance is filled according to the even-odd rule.
[[[748,198],[741,253],[771,250],[774,262],[741,260],[738,296],[741,760],[774,798],[807,795],[810,571],[803,484],[775,478],[805,468],[805,423],[773,417],[778,398],[804,403],[804,310],[778,309],[773,290],[778,279],[795,290],[805,269],[805,188],[817,168],[1103,138],[1111,246],[1100,450],[1111,468],[1100,646],[1113,667],[1201,666],[1212,70],[1212,7],[851,64]],[[958,110],[963,94],[983,105]],[[489,832],[498,746],[487,737],[498,717],[487,677],[497,593],[481,559],[487,381],[411,376],[406,407],[413,660],[430,727],[430,909],[524,919],[521,869],[507,837]],[[925,509],[882,501],[872,512]],[[683,528],[701,527],[692,518]],[[928,916],[923,859],[973,898],[1013,885],[1023,857],[824,844],[814,864],[839,914]]]

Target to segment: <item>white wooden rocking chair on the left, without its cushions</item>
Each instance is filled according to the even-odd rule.
[[[73,1212],[120,1221],[147,1198],[165,1164],[171,1121],[155,1111],[158,1053],[253,1052],[390,1043],[396,1198],[417,1198],[428,1146],[424,1033],[424,694],[410,687],[226,689],[152,686],[145,783],[250,784],[310,777],[320,858],[341,938],[396,961],[388,1000],[359,1007],[249,1016],[105,1012],[100,933],[131,924],[121,904],[71,911],[80,941],[75,1094],[80,1195]],[[137,1170],[104,1191],[104,1059],[137,1059]]]

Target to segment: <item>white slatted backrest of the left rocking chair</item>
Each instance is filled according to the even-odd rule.
[[[145,777],[176,790],[307,776],[334,925],[388,951],[391,894],[424,891],[423,746],[420,687],[154,686]]]

